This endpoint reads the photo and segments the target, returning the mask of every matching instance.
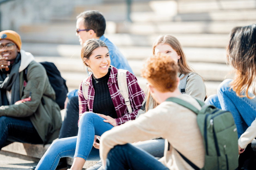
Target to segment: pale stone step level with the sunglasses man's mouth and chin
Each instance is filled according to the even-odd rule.
[[[71,32],[71,33],[70,33]],[[218,47],[225,48],[228,34],[189,34],[189,33],[166,33],[175,36],[183,47]],[[117,46],[152,46],[159,33],[138,34],[105,34],[105,36]],[[75,31],[69,33],[56,33],[55,31],[45,33],[20,33],[24,43],[57,43],[57,44],[79,44]],[[47,50],[47,49],[45,49]]]

